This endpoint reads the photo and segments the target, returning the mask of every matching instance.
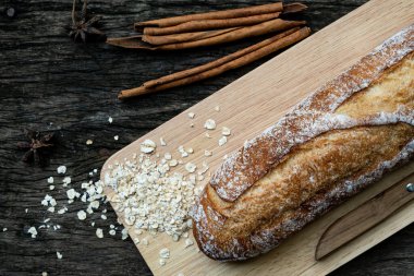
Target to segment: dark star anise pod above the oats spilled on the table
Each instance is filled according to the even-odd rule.
[[[45,157],[48,149],[53,147],[54,133],[41,134],[39,131],[24,130],[28,142],[20,142],[17,147],[27,151],[23,156],[23,161],[45,165]]]

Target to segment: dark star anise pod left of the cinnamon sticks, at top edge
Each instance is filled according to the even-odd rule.
[[[101,16],[93,16],[89,19],[86,14],[87,0],[84,0],[81,16],[76,13],[76,1],[73,0],[72,8],[72,25],[69,27],[69,36],[72,37],[74,41],[86,40],[106,40],[107,36],[96,28],[96,25],[101,20]]]

